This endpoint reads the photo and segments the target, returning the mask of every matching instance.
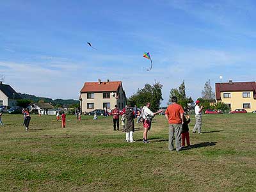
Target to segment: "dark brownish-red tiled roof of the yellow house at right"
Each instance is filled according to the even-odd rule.
[[[253,98],[256,99],[256,83],[237,82],[237,83],[216,83],[216,99],[221,99],[221,92],[253,92]]]

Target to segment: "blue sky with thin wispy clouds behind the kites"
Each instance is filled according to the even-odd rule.
[[[255,10],[255,1],[2,0],[0,75],[53,99],[77,99],[85,81],[120,80],[127,96],[160,81],[163,106],[184,79],[196,99],[220,75],[255,81]]]

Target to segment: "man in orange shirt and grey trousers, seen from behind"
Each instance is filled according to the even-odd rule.
[[[176,150],[179,152],[181,147],[181,131],[182,131],[182,124],[183,124],[183,113],[184,110],[182,106],[177,104],[177,97],[172,97],[172,104],[168,106],[165,111],[165,117],[169,123],[169,150],[174,150],[173,147],[173,139],[175,133],[175,145]]]

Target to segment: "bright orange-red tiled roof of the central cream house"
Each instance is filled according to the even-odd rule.
[[[117,92],[120,86],[122,86],[122,81],[100,82],[100,84],[98,82],[85,82],[80,92]]]

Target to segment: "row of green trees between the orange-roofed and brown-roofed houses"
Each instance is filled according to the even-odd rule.
[[[141,89],[138,89],[136,93],[131,95],[131,97],[127,100],[128,104],[131,106],[145,106],[146,102],[151,103],[151,109],[156,111],[160,108],[162,97],[162,88],[163,85],[159,82],[155,82],[154,84],[145,84],[145,86]],[[189,108],[189,104],[193,103],[192,97],[188,97],[186,95],[186,86],[184,80],[179,85],[178,88],[172,88],[170,90],[170,96],[168,100],[168,104],[170,104],[171,98],[176,96],[178,98],[178,103],[187,110]],[[215,103],[215,94],[212,91],[211,81],[206,81],[204,84],[204,90],[202,90],[202,97],[200,97],[201,104],[204,106],[204,109],[217,109],[222,111],[229,111],[227,104],[223,102]]]

